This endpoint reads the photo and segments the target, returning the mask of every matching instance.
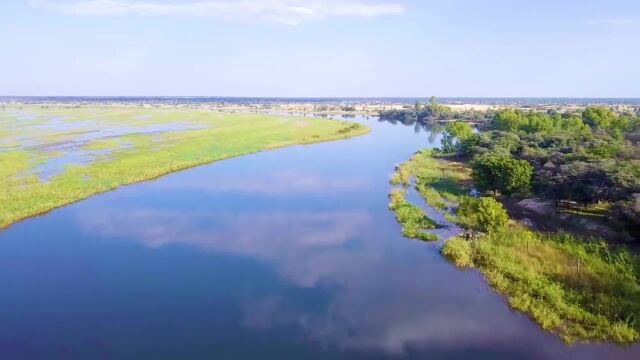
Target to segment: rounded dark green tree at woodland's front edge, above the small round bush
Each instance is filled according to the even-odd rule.
[[[476,156],[471,168],[476,186],[482,191],[492,191],[494,196],[498,191],[510,195],[529,191],[531,187],[533,168],[526,160],[486,153]]]

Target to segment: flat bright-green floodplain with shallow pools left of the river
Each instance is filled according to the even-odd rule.
[[[172,171],[368,131],[352,122],[264,114],[4,105],[0,228]]]

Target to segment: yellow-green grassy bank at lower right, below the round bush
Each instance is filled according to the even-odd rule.
[[[443,254],[447,248],[454,263],[473,264],[513,308],[545,330],[567,342],[640,339],[640,264],[628,252],[565,233],[520,228],[485,235],[474,244],[469,255],[456,239]]]

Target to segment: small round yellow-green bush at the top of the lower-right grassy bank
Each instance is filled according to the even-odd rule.
[[[486,233],[503,229],[509,220],[502,204],[490,197],[465,198],[456,214],[463,227]]]

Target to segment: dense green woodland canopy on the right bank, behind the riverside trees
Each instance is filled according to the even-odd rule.
[[[546,117],[552,123],[550,130],[544,125]],[[637,123],[633,114],[617,115],[603,107],[587,108],[584,121],[572,113],[547,115],[504,109],[494,116],[493,127],[506,131],[475,135],[465,141],[462,152],[469,157],[492,154],[526,160],[534,169],[533,191],[556,200],[556,204],[613,203],[640,192],[635,180],[638,174],[629,171],[633,168],[630,164],[640,163]],[[521,170],[527,172],[524,167]],[[486,179],[476,178],[487,188],[491,184]]]

